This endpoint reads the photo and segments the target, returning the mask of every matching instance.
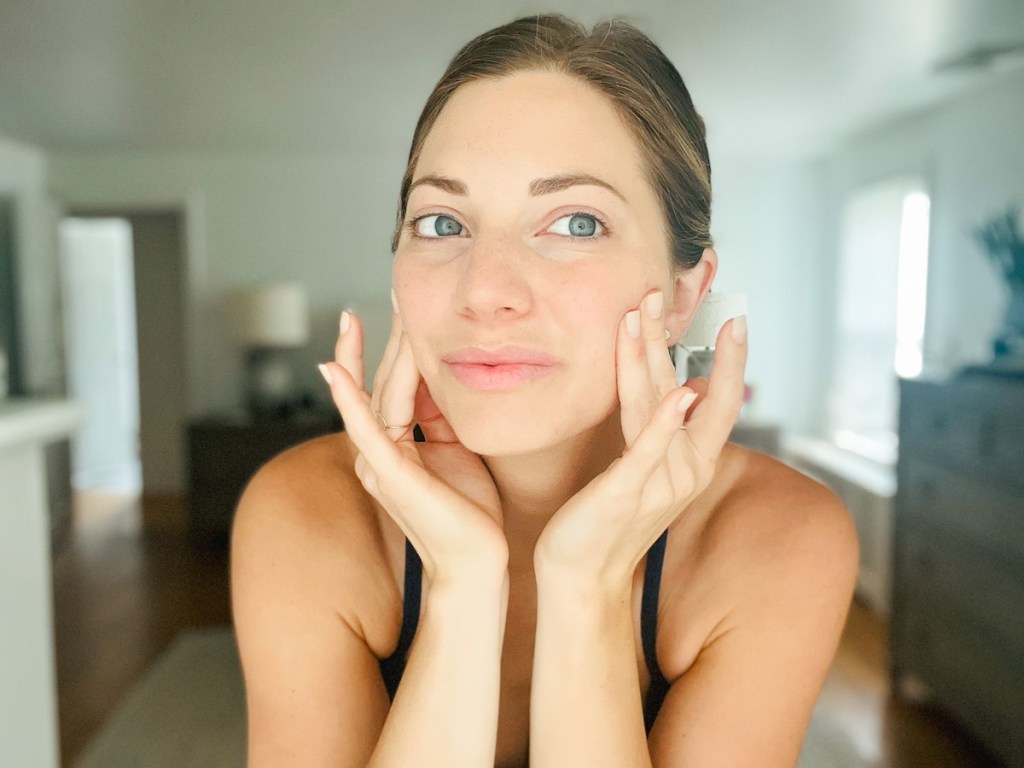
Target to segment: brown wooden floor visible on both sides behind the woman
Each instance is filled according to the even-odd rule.
[[[190,627],[230,624],[226,544],[189,543],[178,499],[78,495],[53,557],[61,765]],[[886,628],[855,602],[821,693],[860,754],[880,768],[995,763],[942,715],[889,696]]]

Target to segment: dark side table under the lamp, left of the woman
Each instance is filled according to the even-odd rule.
[[[189,536],[194,541],[226,541],[242,492],[261,466],[286,449],[341,429],[338,412],[328,410],[287,418],[240,413],[189,421]]]

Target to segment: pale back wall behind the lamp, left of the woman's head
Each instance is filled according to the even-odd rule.
[[[198,414],[241,403],[242,355],[225,330],[224,303],[232,290],[251,283],[291,279],[309,290],[313,338],[296,358],[302,383],[317,396],[327,392],[315,362],[333,355],[342,308],[364,312],[367,357],[379,359],[388,331],[389,244],[406,152],[61,153],[51,158],[51,184],[70,209],[184,209],[188,410]]]

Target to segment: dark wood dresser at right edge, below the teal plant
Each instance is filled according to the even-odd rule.
[[[894,691],[1024,766],[1024,380],[900,382]]]

